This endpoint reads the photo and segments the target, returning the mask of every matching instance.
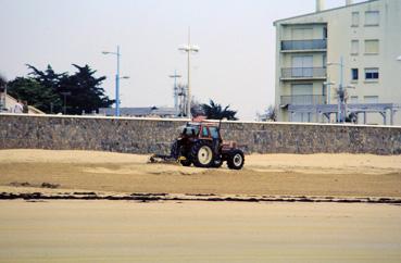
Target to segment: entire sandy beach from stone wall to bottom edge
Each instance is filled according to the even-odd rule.
[[[0,262],[401,259],[401,156],[253,154],[242,171],[148,158],[0,150]]]

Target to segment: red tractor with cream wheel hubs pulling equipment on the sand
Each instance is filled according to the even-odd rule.
[[[241,170],[243,152],[233,141],[225,142],[220,133],[221,123],[189,122],[183,127],[180,136],[173,142],[171,155],[151,156],[151,162],[179,161],[184,166],[221,167],[224,162],[231,170]]]

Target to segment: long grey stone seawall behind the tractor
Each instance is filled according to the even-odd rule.
[[[0,114],[0,149],[167,153],[186,121]],[[248,153],[401,154],[401,127],[223,122]]]

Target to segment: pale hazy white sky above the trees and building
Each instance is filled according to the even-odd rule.
[[[326,8],[344,4],[327,0]],[[101,51],[121,46],[122,107],[173,105],[175,70],[186,83],[186,57],[177,48],[192,42],[192,95],[238,110],[253,120],[274,103],[273,22],[314,12],[315,0],[0,0],[0,73],[25,76],[25,64],[55,72],[89,64],[105,75],[114,98],[115,58]]]

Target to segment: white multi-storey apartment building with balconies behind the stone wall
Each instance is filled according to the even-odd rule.
[[[401,125],[401,0],[330,10],[317,0],[315,13],[274,25],[278,121],[336,122],[347,112],[359,123]]]

